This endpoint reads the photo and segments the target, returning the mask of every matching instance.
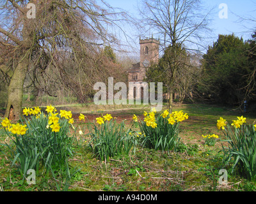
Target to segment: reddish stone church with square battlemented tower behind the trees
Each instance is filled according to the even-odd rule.
[[[140,39],[140,62],[132,64],[132,68],[128,71],[129,87],[132,87],[132,90],[129,89],[130,98],[143,98],[143,88],[145,88],[143,81],[147,68],[158,60],[159,40],[154,39],[153,36],[149,39]]]

